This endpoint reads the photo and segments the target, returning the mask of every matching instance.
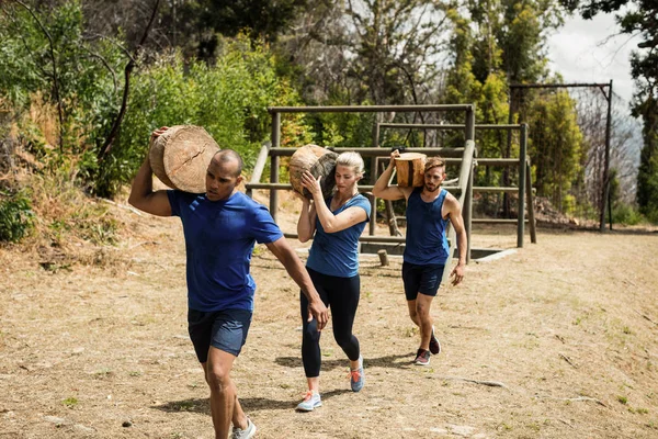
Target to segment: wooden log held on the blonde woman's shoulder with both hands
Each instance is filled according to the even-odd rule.
[[[293,189],[310,200],[313,198],[310,192],[302,185],[302,175],[304,171],[310,171],[316,179],[320,176],[322,177],[320,180],[322,196],[330,196],[336,187],[334,172],[337,158],[338,154],[321,146],[305,145],[299,147],[291,157],[288,166],[288,175]]]

